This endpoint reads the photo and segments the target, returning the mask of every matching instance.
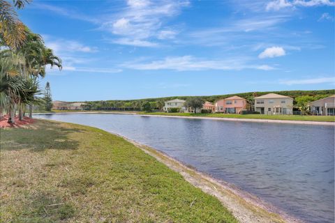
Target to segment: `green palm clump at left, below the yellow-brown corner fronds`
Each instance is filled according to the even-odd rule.
[[[0,51],[0,78],[3,85],[0,92],[1,110],[8,107],[11,117],[8,121],[12,122],[15,121],[17,105],[20,119],[25,105],[29,105],[29,117],[32,118],[32,105],[36,102],[34,95],[38,93],[36,78],[45,76],[45,66],[49,64],[61,70],[61,59],[53,54],[52,49],[45,47],[39,35],[31,33],[27,28],[26,30],[27,41],[22,47]]]

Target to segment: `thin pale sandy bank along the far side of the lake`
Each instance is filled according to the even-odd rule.
[[[258,118],[219,118],[219,117],[200,117],[200,116],[165,116],[156,114],[137,114],[135,112],[57,112],[57,113],[34,113],[35,115],[50,114],[131,114],[137,116],[156,116],[163,118],[191,118],[191,119],[207,119],[217,121],[243,121],[251,123],[282,123],[282,124],[298,124],[298,125],[328,125],[335,126],[335,122],[327,121],[294,121],[294,120],[275,120],[275,119],[258,119]]]

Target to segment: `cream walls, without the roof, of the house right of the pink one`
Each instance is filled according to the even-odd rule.
[[[263,102],[261,104],[260,102]],[[285,102],[285,103],[283,103]],[[281,109],[275,110],[275,107]],[[264,113],[262,109],[264,108]],[[292,98],[266,98],[255,99],[255,111],[261,114],[293,114],[293,99]]]

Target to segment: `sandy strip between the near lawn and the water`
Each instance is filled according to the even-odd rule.
[[[126,141],[140,148],[144,153],[147,153],[156,158],[159,162],[167,165],[170,169],[177,171],[189,183],[200,188],[207,194],[211,194],[218,198],[223,206],[228,208],[232,214],[241,223],[269,223],[269,222],[303,222],[295,217],[285,213],[283,210],[272,206],[270,203],[262,201],[246,191],[240,190],[238,187],[227,183],[223,180],[218,180],[213,176],[204,174],[179,160],[170,157],[162,151],[155,148],[145,146],[132,139],[128,139],[121,134],[110,132],[122,137]]]

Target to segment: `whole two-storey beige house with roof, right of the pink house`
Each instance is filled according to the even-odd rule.
[[[260,114],[293,114],[293,98],[268,93],[255,98],[255,112]]]

